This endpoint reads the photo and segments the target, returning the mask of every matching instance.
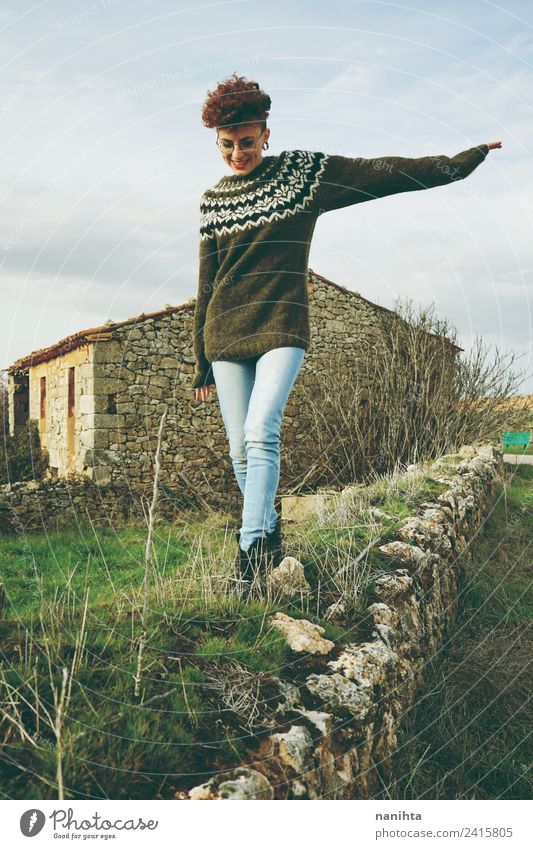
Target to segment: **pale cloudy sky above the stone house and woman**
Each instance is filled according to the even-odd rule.
[[[464,182],[321,216],[310,266],[434,303],[533,392],[527,0],[2,0],[0,30],[0,367],[196,295],[199,199],[230,173],[200,110],[237,71],[272,98],[269,154],[503,142]]]

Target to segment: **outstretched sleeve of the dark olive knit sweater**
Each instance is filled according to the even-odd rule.
[[[414,192],[464,180],[484,161],[488,152],[488,145],[481,144],[452,157],[439,154],[417,159],[403,156],[352,159],[328,155],[313,206],[321,215],[331,209],[398,192]]]

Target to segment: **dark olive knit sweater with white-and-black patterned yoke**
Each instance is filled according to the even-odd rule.
[[[319,215],[462,180],[488,152],[481,144],[453,157],[363,159],[284,150],[245,177],[222,177],[200,204],[192,387],[214,383],[215,360],[309,347],[307,263]]]

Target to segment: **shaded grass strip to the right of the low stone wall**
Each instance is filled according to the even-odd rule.
[[[531,781],[533,467],[506,466],[446,648],[429,659],[381,798],[526,799]]]

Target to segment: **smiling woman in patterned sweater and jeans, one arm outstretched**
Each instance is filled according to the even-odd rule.
[[[243,495],[236,565],[247,588],[281,556],[280,429],[310,343],[307,261],[318,216],[461,180],[501,147],[481,144],[451,158],[263,156],[270,106],[256,82],[233,74],[208,92],[202,109],[231,174],[204,192],[200,206],[192,387],[197,401],[217,388]]]

